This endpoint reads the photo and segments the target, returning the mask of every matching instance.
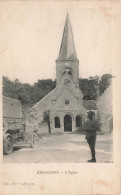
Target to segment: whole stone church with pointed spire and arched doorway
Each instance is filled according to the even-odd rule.
[[[49,111],[51,133],[76,131],[87,119],[88,110],[96,110],[94,101],[88,109],[79,88],[79,60],[73,32],[67,14],[59,56],[56,60],[56,88],[36,103],[29,111],[29,122],[39,133],[48,133],[43,113]]]

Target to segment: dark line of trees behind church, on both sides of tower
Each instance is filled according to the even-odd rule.
[[[111,74],[79,79],[79,87],[83,93],[83,99],[96,100],[97,95],[102,95],[110,85]],[[21,83],[18,79],[11,81],[3,77],[3,95],[21,101],[22,106],[29,109],[56,87],[56,81],[52,79],[38,80],[33,85]]]

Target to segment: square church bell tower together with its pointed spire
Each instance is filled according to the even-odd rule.
[[[79,60],[77,59],[73,32],[67,14],[59,56],[56,60],[56,86],[79,85]]]

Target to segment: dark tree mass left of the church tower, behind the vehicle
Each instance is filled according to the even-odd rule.
[[[20,100],[22,106],[29,109],[53,90],[55,85],[56,82],[52,79],[38,80],[32,86],[21,83],[18,79],[10,81],[9,78],[3,77],[3,95]]]

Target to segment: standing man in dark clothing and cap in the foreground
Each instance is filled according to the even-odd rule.
[[[94,118],[95,113],[92,111],[88,112],[88,120],[84,124],[84,130],[86,131],[86,139],[89,144],[92,159],[87,162],[96,162],[95,158],[95,141],[96,141],[96,132],[98,130],[98,123]]]

